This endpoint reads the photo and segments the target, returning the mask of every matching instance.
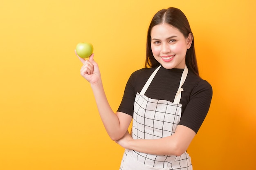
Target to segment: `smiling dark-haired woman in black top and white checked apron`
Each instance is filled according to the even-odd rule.
[[[145,68],[130,76],[117,113],[108,104],[93,57],[79,58],[81,75],[91,84],[108,135],[126,148],[120,170],[192,170],[186,149],[207,115],[212,88],[199,77],[184,13],[168,8],[155,14]]]

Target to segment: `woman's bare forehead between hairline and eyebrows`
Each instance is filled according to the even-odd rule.
[[[155,25],[151,29],[151,37],[154,37],[154,36],[168,37],[170,35],[182,36],[182,33],[180,32],[179,29],[167,23]]]

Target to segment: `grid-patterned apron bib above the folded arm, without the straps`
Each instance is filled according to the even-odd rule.
[[[133,139],[158,139],[173,135],[180,122],[181,106],[137,93],[132,122]]]

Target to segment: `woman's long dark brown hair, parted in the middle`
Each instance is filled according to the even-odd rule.
[[[153,26],[162,24],[162,23],[167,23],[174,26],[184,35],[185,38],[189,36],[189,33],[191,33],[193,37],[193,33],[189,26],[189,21],[187,20],[186,16],[180,9],[171,7],[168,9],[162,9],[158,11],[154,15],[148,28],[145,68],[156,67],[160,65],[160,63],[157,60],[155,60],[155,57],[153,56],[153,53],[152,53],[151,30]],[[186,51],[186,66],[190,71],[192,71],[193,73],[199,76],[198,64],[195,56],[194,37],[193,37],[193,41],[191,43],[190,49],[187,49]]]

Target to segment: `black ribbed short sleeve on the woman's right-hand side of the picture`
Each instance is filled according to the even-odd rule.
[[[209,111],[212,93],[211,85],[205,80],[200,81],[192,91],[191,99],[179,124],[187,126],[197,133]]]

